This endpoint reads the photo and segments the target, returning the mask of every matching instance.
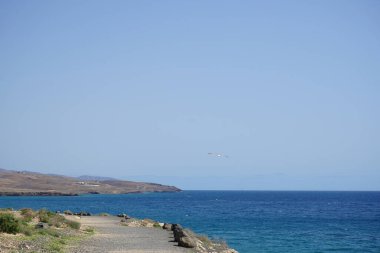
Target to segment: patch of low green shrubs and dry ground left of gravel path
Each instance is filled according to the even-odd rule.
[[[70,241],[93,231],[46,209],[0,210],[0,252],[63,252]]]

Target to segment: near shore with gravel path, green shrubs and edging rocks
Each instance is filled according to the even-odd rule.
[[[41,213],[45,215],[44,220],[41,218]],[[137,219],[127,214],[115,216],[107,213],[91,215],[88,212],[70,211],[54,213],[46,209],[37,211],[30,208],[0,209],[0,217],[9,214],[18,220],[16,223],[20,225],[21,221],[25,222],[25,218],[28,218],[28,224],[24,230],[16,233],[5,233],[1,231],[0,226],[0,241],[7,242],[5,246],[0,244],[0,252],[15,252],[15,250],[40,252],[46,247],[51,247],[48,252],[238,253],[229,248],[225,242],[213,241],[179,224],[160,223],[147,218]],[[46,217],[51,219],[45,220]],[[57,220],[60,223],[56,223]],[[73,229],[67,224],[78,225]],[[63,231],[66,232],[62,234]],[[64,239],[66,233],[72,236]]]

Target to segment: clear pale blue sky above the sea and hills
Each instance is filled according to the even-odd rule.
[[[0,0],[0,168],[380,190],[379,133],[380,1]]]

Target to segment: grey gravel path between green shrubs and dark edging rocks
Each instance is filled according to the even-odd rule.
[[[190,253],[176,246],[173,233],[159,228],[122,226],[117,217],[82,217],[83,226],[93,227],[95,235],[68,248],[70,253]]]

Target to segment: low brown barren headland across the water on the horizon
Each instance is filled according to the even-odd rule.
[[[0,196],[76,196],[178,191],[181,190],[177,187],[155,183],[93,176],[75,178],[0,169]]]

